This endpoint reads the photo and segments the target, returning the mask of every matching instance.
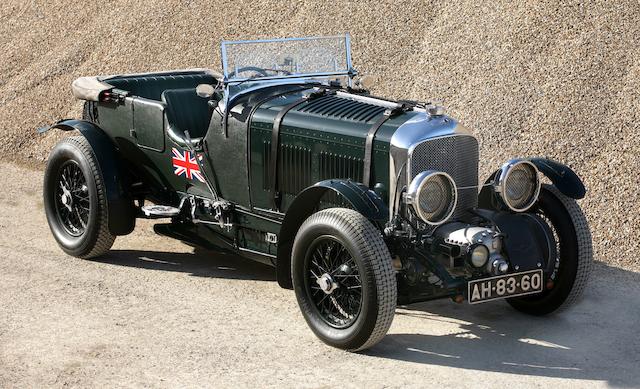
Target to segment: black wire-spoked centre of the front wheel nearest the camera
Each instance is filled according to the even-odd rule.
[[[353,324],[362,306],[362,280],[349,251],[332,236],[321,236],[309,247],[306,289],[314,308],[330,326]]]

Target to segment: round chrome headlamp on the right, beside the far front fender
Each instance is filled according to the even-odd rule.
[[[502,203],[514,212],[524,212],[540,195],[538,168],[527,160],[511,160],[500,168],[495,191]]]

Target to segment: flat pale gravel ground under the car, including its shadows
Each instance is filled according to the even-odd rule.
[[[100,260],[64,255],[41,173],[0,169],[0,388],[640,386],[640,273],[599,263],[583,301],[548,318],[403,307],[352,354],[314,337],[272,268],[194,253],[148,221]]]

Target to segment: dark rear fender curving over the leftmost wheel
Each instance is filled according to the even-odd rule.
[[[78,130],[89,141],[104,180],[109,231],[114,235],[126,235],[133,231],[136,224],[136,209],[133,199],[125,190],[123,180],[126,175],[123,174],[125,170],[122,167],[122,158],[111,138],[100,127],[85,120],[62,120],[46,130],[54,128],[63,131]]]

